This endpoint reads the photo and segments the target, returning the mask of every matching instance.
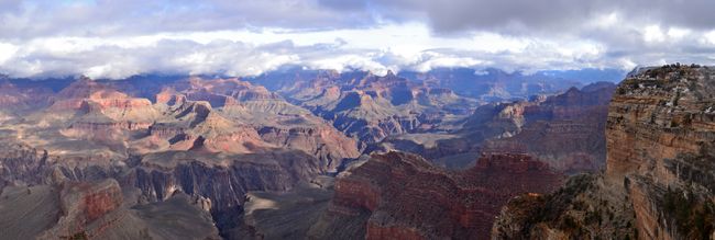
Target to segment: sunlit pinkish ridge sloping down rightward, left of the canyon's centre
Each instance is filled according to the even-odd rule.
[[[262,141],[272,146],[315,155],[329,171],[334,171],[344,159],[360,155],[353,139],[323,119],[263,87],[238,79],[191,78],[162,91],[157,101],[168,104],[169,108],[187,101],[207,102],[217,107],[215,116],[222,116],[223,122],[251,126]]]

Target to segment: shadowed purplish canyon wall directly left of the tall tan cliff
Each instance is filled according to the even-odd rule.
[[[605,164],[604,132],[614,91],[612,83],[600,83],[516,105],[520,107],[510,118],[518,130],[487,140],[483,151],[524,152],[568,173],[596,172]]]

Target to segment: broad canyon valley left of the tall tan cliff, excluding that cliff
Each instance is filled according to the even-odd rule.
[[[482,238],[510,197],[549,193],[568,174],[605,164],[605,141],[594,133],[605,126],[613,83],[485,102],[393,72],[295,76],[275,92],[263,84],[275,89],[270,83],[280,79],[268,76],[82,77],[57,90],[6,80],[0,186],[8,206],[32,210],[23,188],[92,196],[87,205],[45,206],[47,217],[33,219],[45,227],[15,235],[170,239],[165,232],[177,226],[121,232],[143,222],[138,210],[146,209],[208,224],[206,238]],[[443,201],[417,204],[432,181],[448,181],[429,191]],[[94,190],[107,184],[111,192]],[[391,188],[400,185],[416,188]],[[210,218],[170,210],[182,204]],[[98,210],[70,220],[70,208]],[[433,213],[414,215],[427,214],[420,209]],[[441,224],[428,218],[442,214]],[[302,216],[314,220],[298,224]]]

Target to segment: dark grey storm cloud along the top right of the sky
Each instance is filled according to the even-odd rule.
[[[385,16],[405,20],[422,14],[436,32],[487,30],[506,32],[573,31],[602,14],[692,28],[715,28],[712,0],[373,0]]]

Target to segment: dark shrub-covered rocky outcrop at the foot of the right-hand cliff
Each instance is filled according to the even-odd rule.
[[[593,174],[572,176],[559,191],[513,198],[502,209],[492,239],[635,238],[634,210],[624,191]]]

